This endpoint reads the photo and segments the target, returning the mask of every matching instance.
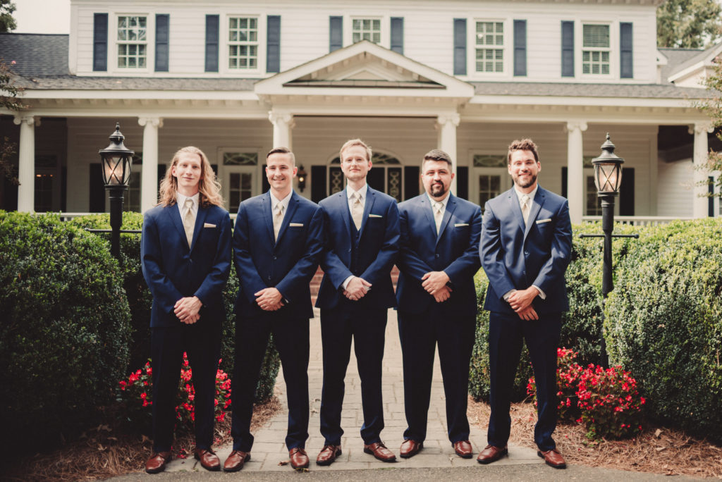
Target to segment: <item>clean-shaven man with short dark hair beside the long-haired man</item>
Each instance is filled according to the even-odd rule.
[[[286,382],[291,466],[308,467],[309,282],[321,255],[323,218],[316,203],[294,192],[296,172],[289,149],[271,149],[266,156],[271,188],[240,203],[235,220],[233,259],[240,289],[231,387],[233,451],[223,466],[226,472],[242,469],[251,458],[253,397],[270,333]]]

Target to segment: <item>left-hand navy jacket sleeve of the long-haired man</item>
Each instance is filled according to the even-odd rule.
[[[183,294],[175,288],[165,271],[158,226],[154,216],[148,214],[143,219],[140,257],[143,277],[157,306],[166,313],[172,312],[175,302],[183,298]]]

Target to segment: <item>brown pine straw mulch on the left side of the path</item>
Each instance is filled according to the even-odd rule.
[[[253,407],[251,431],[266,424],[281,405],[271,397],[266,403]],[[217,422],[214,446],[229,443],[230,412],[225,421]],[[193,457],[193,434],[175,439],[173,457]],[[145,435],[123,433],[121,426],[99,425],[84,432],[82,437],[48,454],[25,457],[0,473],[4,481],[95,481],[126,473],[142,472],[150,456],[152,442]]]

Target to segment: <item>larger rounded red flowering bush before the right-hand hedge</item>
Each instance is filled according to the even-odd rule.
[[[644,397],[637,381],[621,366],[604,369],[589,365],[579,380],[579,408],[587,437],[621,439],[642,431],[639,423]]]

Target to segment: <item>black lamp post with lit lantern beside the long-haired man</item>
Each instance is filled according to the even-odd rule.
[[[110,252],[118,260],[121,259],[121,225],[123,224],[123,191],[128,189],[131,178],[133,154],[123,145],[125,136],[121,133],[121,125],[116,123],[116,131],[110,134],[110,145],[100,149],[103,162],[103,182],[110,198]]]

